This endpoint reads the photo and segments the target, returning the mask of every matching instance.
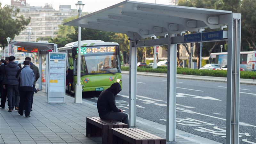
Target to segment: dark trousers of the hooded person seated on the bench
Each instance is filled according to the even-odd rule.
[[[118,121],[120,121],[122,123],[127,124],[128,127],[130,127],[128,115],[126,113],[123,113],[123,112],[111,111],[111,112],[109,112],[106,115],[103,115],[103,116],[100,115],[100,118],[102,118],[102,119],[110,119],[110,120],[118,120]]]

